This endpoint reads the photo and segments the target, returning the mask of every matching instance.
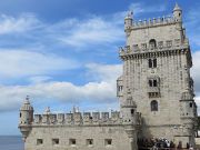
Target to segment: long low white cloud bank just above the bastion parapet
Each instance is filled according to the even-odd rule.
[[[0,111],[20,107],[27,94],[33,101],[58,100],[64,102],[92,101],[94,103],[117,102],[116,79],[121,73],[119,64],[88,64],[89,74],[99,81],[77,86],[71,82],[46,81],[29,86],[1,86]],[[99,77],[99,78],[98,78]]]

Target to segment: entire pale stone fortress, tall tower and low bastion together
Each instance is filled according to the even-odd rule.
[[[192,58],[181,8],[176,4],[171,17],[140,21],[128,13],[124,32],[120,111],[33,114],[27,98],[19,121],[26,150],[138,150],[161,138],[169,147],[196,147]]]

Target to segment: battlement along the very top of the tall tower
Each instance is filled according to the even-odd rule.
[[[153,19],[144,19],[139,21],[133,21],[131,29],[140,29],[140,28],[150,28],[150,27],[157,27],[157,26],[167,26],[180,22],[174,17],[168,16],[168,17],[161,17],[161,18],[153,18]]]

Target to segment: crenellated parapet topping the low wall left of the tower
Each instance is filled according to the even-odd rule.
[[[87,124],[116,124],[122,123],[119,111],[112,112],[70,112],[34,114],[34,126],[87,126]]]

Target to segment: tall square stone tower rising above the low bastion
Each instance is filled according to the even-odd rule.
[[[192,58],[181,8],[176,4],[171,17],[140,21],[129,13],[124,32],[127,43],[119,53],[123,73],[117,81],[122,114],[131,93],[142,116],[143,138],[194,144]]]

